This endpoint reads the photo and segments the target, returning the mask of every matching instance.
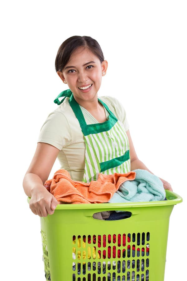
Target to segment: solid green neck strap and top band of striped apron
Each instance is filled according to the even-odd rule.
[[[108,120],[103,123],[87,125],[79,104],[75,101],[73,94],[70,96],[69,104],[70,104],[72,110],[74,111],[76,118],[79,121],[81,130],[82,130],[84,136],[109,131],[118,121],[116,116],[112,113],[112,111],[109,110],[108,106],[100,99],[98,99],[98,101],[109,112]]]

